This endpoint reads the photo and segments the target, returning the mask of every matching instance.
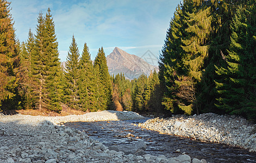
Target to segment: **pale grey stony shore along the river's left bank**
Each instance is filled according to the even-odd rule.
[[[206,162],[183,154],[177,158],[124,154],[108,149],[84,131],[61,122],[143,118],[134,112],[102,111],[85,115],[42,117],[0,114],[0,162]]]

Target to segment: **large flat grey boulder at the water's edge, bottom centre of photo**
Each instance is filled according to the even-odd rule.
[[[147,148],[145,142],[139,140],[138,142],[131,144],[131,145],[114,145],[110,146],[109,150],[114,150],[117,152],[123,152],[124,154],[142,154],[141,150],[145,151]],[[140,149],[140,150],[139,150]]]

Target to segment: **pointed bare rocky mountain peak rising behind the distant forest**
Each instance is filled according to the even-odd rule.
[[[107,56],[109,74],[124,73],[124,76],[128,79],[138,78],[141,74],[149,76],[151,71],[159,71],[157,66],[148,64],[147,61],[154,61],[156,63],[157,57],[148,51],[140,58],[118,47],[115,47],[114,51]]]

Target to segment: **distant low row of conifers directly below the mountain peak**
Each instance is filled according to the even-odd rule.
[[[161,104],[163,88],[160,87],[158,73],[154,71],[147,77],[142,74],[138,79],[128,80],[124,74],[111,77],[113,84],[113,109],[139,112],[163,111]]]

